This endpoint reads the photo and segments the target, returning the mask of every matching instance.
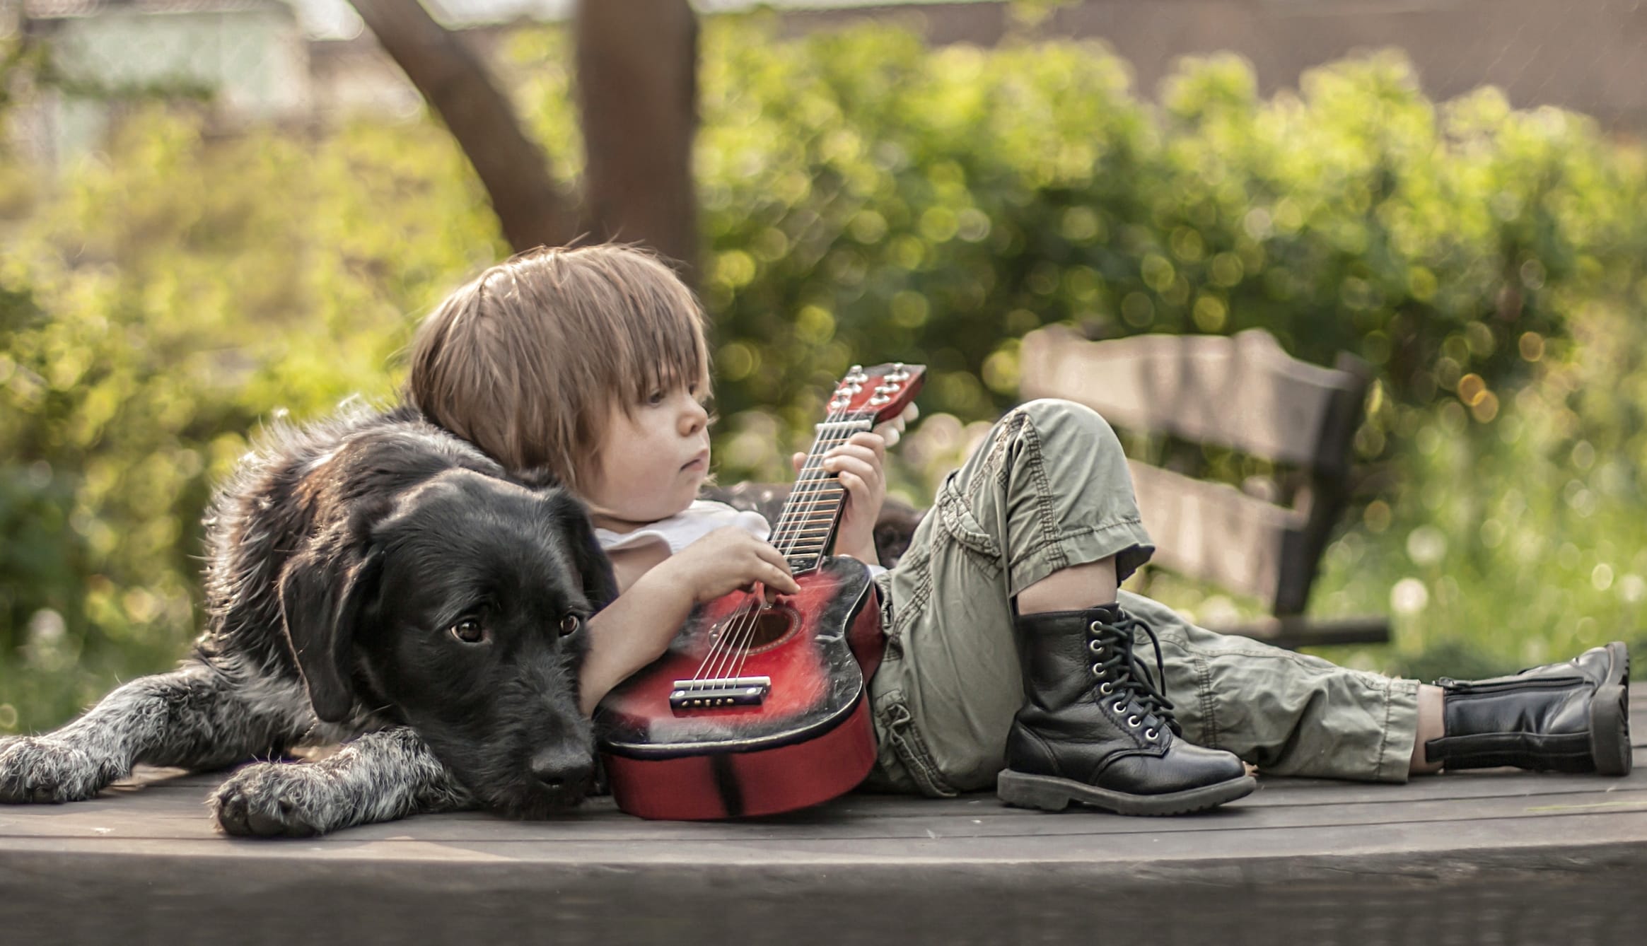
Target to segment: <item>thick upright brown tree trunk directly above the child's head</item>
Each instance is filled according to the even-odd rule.
[[[585,226],[642,242],[695,280],[698,25],[687,0],[581,0],[578,105],[588,155]]]

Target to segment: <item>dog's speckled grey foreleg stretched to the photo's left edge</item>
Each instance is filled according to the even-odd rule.
[[[270,755],[296,735],[290,715],[254,712],[229,679],[188,661],[119,687],[63,728],[0,738],[0,801],[82,801],[138,761],[209,770]]]

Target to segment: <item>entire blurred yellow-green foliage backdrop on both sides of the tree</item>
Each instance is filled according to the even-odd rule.
[[[573,186],[565,36],[509,56]],[[1153,107],[1089,43],[932,51],[721,16],[700,69],[723,481],[786,478],[855,361],[931,368],[891,470],[926,504],[1015,400],[1023,333],[1262,325],[1382,369],[1357,447],[1383,486],[1316,610],[1400,588],[1383,666],[1558,656],[1640,618],[1639,147],[1491,89],[1435,105],[1390,56],[1270,101],[1212,58]],[[40,181],[0,157],[0,730],[181,654],[208,491],[255,427],[390,397],[415,320],[506,252],[430,120],[224,138],[153,107]]]

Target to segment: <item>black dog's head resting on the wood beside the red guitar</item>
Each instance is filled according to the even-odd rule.
[[[321,720],[400,719],[481,804],[527,817],[588,789],[578,667],[590,615],[616,595],[581,503],[469,470],[357,511],[280,582]]]

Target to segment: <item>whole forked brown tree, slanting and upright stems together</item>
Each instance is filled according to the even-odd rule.
[[[697,264],[697,20],[687,0],[585,0],[575,23],[585,199],[555,190],[486,66],[418,0],[351,0],[469,158],[516,251],[590,234]]]

